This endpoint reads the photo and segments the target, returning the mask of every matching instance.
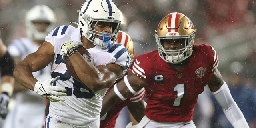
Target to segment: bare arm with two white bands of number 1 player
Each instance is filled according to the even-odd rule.
[[[146,85],[145,79],[136,74],[128,74],[124,79],[114,85],[114,88],[108,92],[102,102],[100,115],[103,116],[118,102],[126,100],[129,96],[136,94]]]

